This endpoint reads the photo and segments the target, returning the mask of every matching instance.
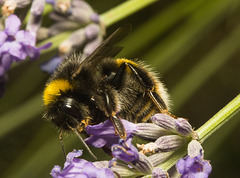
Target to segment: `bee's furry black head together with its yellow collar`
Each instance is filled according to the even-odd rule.
[[[43,93],[44,117],[63,130],[82,131],[90,121],[89,108],[75,99],[72,89],[68,80],[58,79],[47,84]]]

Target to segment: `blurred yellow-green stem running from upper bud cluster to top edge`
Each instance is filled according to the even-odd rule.
[[[157,2],[156,0],[131,0],[105,12],[100,16],[103,24],[108,27],[117,21],[128,17],[130,14],[146,7],[147,5]]]

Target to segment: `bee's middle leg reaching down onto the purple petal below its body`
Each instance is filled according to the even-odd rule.
[[[105,94],[105,102],[106,102],[106,106],[107,106],[107,112],[109,115],[109,119],[112,121],[112,123],[114,125],[116,134],[118,134],[120,138],[124,139],[127,136],[124,125],[123,125],[122,121],[120,120],[120,118],[118,118],[116,116],[116,112],[113,111],[113,108],[110,105],[110,99],[109,99],[108,93],[104,92],[104,94]]]

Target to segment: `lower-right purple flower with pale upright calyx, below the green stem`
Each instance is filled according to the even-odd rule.
[[[207,178],[212,171],[209,161],[203,159],[203,149],[199,142],[193,140],[188,145],[188,156],[176,164],[182,178]]]

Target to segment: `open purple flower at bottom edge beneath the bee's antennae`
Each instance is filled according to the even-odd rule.
[[[52,177],[114,178],[114,174],[110,169],[97,168],[92,162],[76,158],[81,155],[81,150],[73,150],[72,152],[68,153],[64,168],[61,170],[60,166],[54,166],[51,171]]]

